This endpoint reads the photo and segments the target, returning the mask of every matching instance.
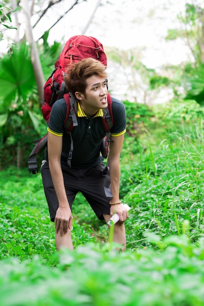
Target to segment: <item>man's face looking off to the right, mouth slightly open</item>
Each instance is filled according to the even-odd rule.
[[[93,115],[98,109],[107,107],[107,87],[104,78],[93,75],[86,79],[85,94],[81,94],[81,105],[87,115]]]

